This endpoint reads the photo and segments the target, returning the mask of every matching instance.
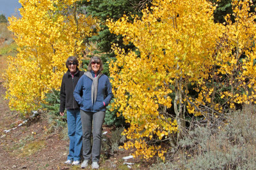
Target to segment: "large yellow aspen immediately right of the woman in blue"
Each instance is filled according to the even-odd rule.
[[[207,79],[223,26],[213,22],[214,7],[208,1],[153,1],[143,17],[127,17],[108,23],[109,30],[131,41],[137,52],[115,45],[116,61],[110,63],[116,108],[131,125],[125,129],[124,148],[145,159],[165,150],[157,141],[175,145],[184,126],[189,83]],[[167,109],[172,106],[174,115]],[[177,135],[177,136],[176,136]],[[175,137],[175,138],[174,138]]]

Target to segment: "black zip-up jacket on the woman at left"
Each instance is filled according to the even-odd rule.
[[[77,72],[74,74],[74,78],[72,78],[69,70],[63,75],[60,88],[60,112],[63,112],[65,108],[67,110],[79,109],[79,105],[74,99],[73,92],[77,81],[81,76],[83,76],[83,74],[84,71],[79,71],[79,69],[77,69]]]

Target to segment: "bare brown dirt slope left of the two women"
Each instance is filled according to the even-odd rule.
[[[22,120],[8,108],[4,92],[0,85],[0,169],[67,169],[61,162],[67,155],[68,141],[60,139],[58,134],[46,134],[48,125],[44,118],[17,127]]]

